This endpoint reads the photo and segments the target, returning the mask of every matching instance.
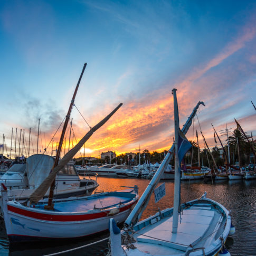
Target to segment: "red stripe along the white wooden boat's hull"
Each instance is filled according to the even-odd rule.
[[[121,207],[120,212],[124,212],[128,210],[131,207],[131,205],[133,205],[134,203]],[[58,215],[58,214],[50,214],[50,213],[47,214],[47,213],[27,211],[25,209],[17,208],[12,205],[7,205],[7,208],[8,208],[8,211],[11,211],[13,213],[17,213],[26,217],[31,217],[33,219],[44,220],[44,221],[60,221],[60,222],[93,220],[93,219],[105,217],[108,215],[107,213],[109,213],[109,211],[106,211],[106,212],[99,212],[99,213],[92,213],[92,214]]]

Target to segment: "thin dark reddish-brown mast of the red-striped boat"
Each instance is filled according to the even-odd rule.
[[[58,147],[57,152],[56,152],[56,157],[55,157],[52,169],[54,169],[54,167],[56,167],[58,165],[58,163],[59,163],[60,154],[61,154],[61,147],[62,147],[62,144],[63,144],[63,139],[64,139],[64,136],[65,136],[66,129],[68,127],[71,110],[72,110],[72,108],[74,106],[74,99],[75,99],[75,96],[77,96],[78,87],[79,87],[80,81],[82,79],[83,72],[86,69],[86,66],[87,66],[87,63],[84,63],[82,73],[80,74],[80,78],[79,78],[78,83],[77,83],[77,87],[75,87],[74,94],[73,94],[72,100],[70,102],[69,110],[68,110],[67,116],[65,118],[65,122],[64,122],[63,129],[62,129],[62,132],[61,132],[59,147]],[[50,188],[49,200],[48,200],[48,208],[49,207],[50,208],[53,207],[52,206],[52,200],[53,200],[54,187],[55,187],[55,181],[53,181],[53,183],[51,185],[51,188]]]

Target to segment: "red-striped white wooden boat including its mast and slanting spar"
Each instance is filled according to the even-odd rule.
[[[75,95],[86,68],[84,64],[77,87],[63,125],[58,150],[50,174],[30,195],[30,201],[24,203],[15,199],[8,200],[7,188],[2,184],[2,205],[6,233],[10,241],[27,241],[37,239],[77,238],[98,233],[107,229],[110,216],[118,222],[124,222],[131,208],[138,200],[138,188],[129,191],[101,193],[82,198],[54,200],[56,175],[78,153],[86,141],[103,126],[121,107],[120,103],[108,116],[97,125],[90,127],[86,135],[67,154],[60,159],[61,147],[67,128]],[[49,191],[49,197],[40,201]]]

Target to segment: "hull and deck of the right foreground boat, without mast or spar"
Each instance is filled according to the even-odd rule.
[[[121,255],[142,256],[145,251],[147,255],[216,255],[230,232],[229,211],[208,198],[187,202],[182,208],[176,234],[172,233],[173,208],[167,208],[133,226],[136,249],[124,246]]]

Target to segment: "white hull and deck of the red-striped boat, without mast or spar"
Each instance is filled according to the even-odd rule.
[[[8,201],[2,190],[6,233],[11,242],[78,238],[108,229],[111,217],[124,222],[138,200],[138,191],[94,194],[86,197],[54,201],[52,211],[45,210],[47,202],[30,207],[18,201]]]

